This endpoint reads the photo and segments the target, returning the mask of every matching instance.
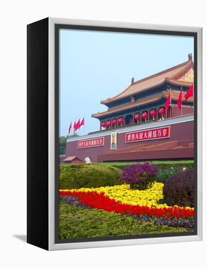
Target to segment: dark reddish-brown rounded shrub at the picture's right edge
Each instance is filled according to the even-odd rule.
[[[194,170],[180,172],[167,179],[163,195],[168,206],[194,207]]]

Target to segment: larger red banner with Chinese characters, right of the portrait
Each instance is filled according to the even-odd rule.
[[[163,139],[170,137],[170,127],[127,133],[125,142],[134,142],[151,139]]]

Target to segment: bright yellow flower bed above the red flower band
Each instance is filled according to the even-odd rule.
[[[81,188],[72,190],[60,191],[97,191],[104,192],[106,196],[116,201],[121,201],[124,204],[147,206],[156,206],[157,208],[168,207],[167,204],[157,204],[160,199],[163,199],[162,188],[164,184],[155,182],[152,188],[139,191],[130,189],[129,184],[99,187],[99,188]]]

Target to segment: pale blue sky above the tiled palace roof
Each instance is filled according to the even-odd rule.
[[[83,135],[100,128],[91,114],[131,83],[188,60],[193,38],[60,29],[59,135],[85,116]],[[73,133],[73,131],[72,131]]]

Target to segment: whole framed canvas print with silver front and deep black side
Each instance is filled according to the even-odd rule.
[[[202,28],[27,26],[27,242],[202,239]]]

